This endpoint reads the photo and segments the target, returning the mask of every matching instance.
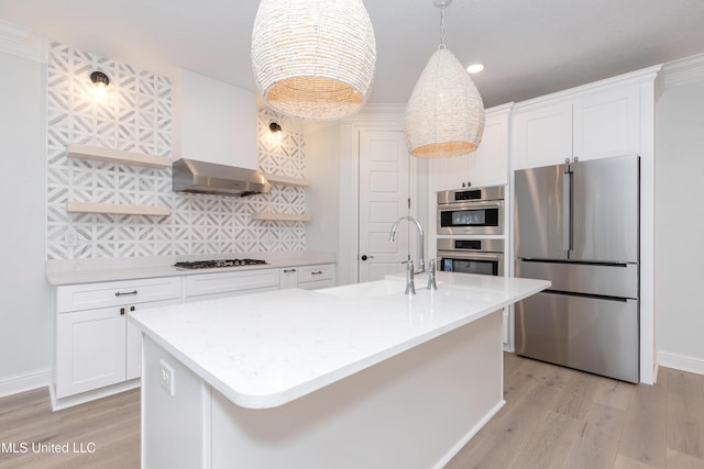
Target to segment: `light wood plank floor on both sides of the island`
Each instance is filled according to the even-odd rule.
[[[504,376],[507,404],[447,469],[704,469],[704,376],[661,368],[636,386],[513,354]],[[0,399],[0,443],[1,469],[139,468],[139,390],[54,413],[44,389]]]

